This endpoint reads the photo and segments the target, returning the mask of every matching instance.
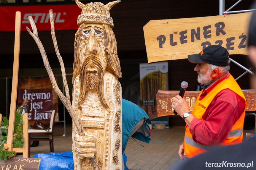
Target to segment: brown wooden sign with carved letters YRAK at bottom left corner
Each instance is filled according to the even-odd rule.
[[[38,170],[41,158],[17,158],[12,157],[7,161],[0,161],[1,169],[9,170]]]

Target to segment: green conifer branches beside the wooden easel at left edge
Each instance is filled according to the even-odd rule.
[[[13,148],[21,148],[23,147],[24,138],[23,138],[23,114],[20,113],[20,107],[15,112],[15,121],[14,121],[14,129],[13,129]],[[8,136],[8,126],[9,126],[9,120],[7,117],[3,117],[3,122],[1,122],[2,128],[2,134],[0,134],[0,159],[2,162],[6,161],[7,159],[14,156],[16,153],[15,151],[8,151],[4,150],[4,144],[7,142],[7,136]]]

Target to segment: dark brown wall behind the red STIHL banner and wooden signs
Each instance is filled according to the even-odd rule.
[[[88,3],[90,1],[82,1]],[[107,4],[109,1],[102,1]],[[225,10],[231,7],[236,0],[226,0]],[[234,10],[250,9],[253,0],[241,1]],[[1,5],[1,4],[0,4]],[[123,0],[110,10],[113,18],[113,31],[117,40],[117,50],[120,59],[122,75],[120,82],[122,85],[123,98],[135,101],[139,97],[139,63],[147,63],[147,54],[144,42],[143,26],[150,20],[205,17],[219,14],[219,1],[205,0]],[[49,25],[50,27],[50,25]],[[74,60],[74,35],[76,30],[55,30],[59,51],[63,58],[66,73],[72,73]],[[50,31],[38,31],[47,53],[50,65],[54,68],[54,74],[61,74],[60,65],[56,57]],[[0,31],[0,71],[1,77],[12,77],[14,51],[14,32]],[[200,48],[198,48],[198,52]],[[235,59],[246,67],[250,66],[247,56],[232,55]],[[187,59],[168,61],[169,67],[169,90],[179,90],[180,83],[187,81],[187,90],[195,90],[197,74],[193,71],[195,64],[191,64]],[[42,57],[33,38],[26,31],[20,35],[20,72],[19,76],[40,76],[47,75],[44,69]],[[230,64],[231,74],[236,78],[244,70],[235,64]],[[71,76],[68,76],[71,77]],[[70,93],[72,90],[71,79],[68,78]],[[6,81],[0,79],[0,113],[6,111],[6,83],[8,95],[11,92],[11,79]],[[62,87],[61,77],[58,83]],[[242,89],[249,89],[248,74],[238,80]],[[10,96],[7,99],[10,100]],[[61,102],[60,108],[61,108]],[[9,108],[9,103],[8,103]],[[60,109],[61,111],[61,109]]]

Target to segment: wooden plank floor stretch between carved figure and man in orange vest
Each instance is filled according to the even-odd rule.
[[[185,128],[152,129],[153,141],[149,144],[139,141],[144,147],[139,147],[139,144],[130,137],[125,149],[127,167],[130,170],[168,169],[170,167],[168,161],[171,158],[179,160],[178,148],[183,142],[184,133]]]

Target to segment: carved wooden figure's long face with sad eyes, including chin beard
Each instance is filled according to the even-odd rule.
[[[79,39],[79,60],[82,74],[85,75],[85,85],[91,90],[98,88],[106,71],[107,61],[104,43],[103,25],[83,25]]]

